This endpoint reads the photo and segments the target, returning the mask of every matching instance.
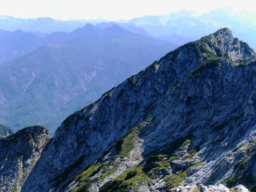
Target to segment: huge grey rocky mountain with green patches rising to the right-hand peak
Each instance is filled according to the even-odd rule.
[[[169,52],[29,148],[25,177],[1,157],[24,178],[2,191],[255,192],[255,60],[227,28]]]

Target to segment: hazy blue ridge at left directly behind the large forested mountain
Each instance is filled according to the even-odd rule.
[[[114,22],[108,26],[116,25]],[[120,25],[119,25],[120,26]],[[61,41],[69,41],[75,38],[81,37],[96,37],[97,35],[107,35],[108,30],[112,28],[105,29],[103,27],[100,29],[97,26],[94,26],[90,23],[87,23],[85,26],[77,28],[72,32],[52,32],[51,34],[44,34],[39,31],[36,32],[23,32],[21,30],[16,30],[14,32],[0,30],[0,64],[3,64],[7,61],[11,61],[21,55],[27,54],[35,49],[49,44],[56,43]],[[123,32],[128,33],[128,31],[122,31],[122,29],[116,28],[110,34],[117,35],[118,29]],[[135,29],[138,29],[137,32]],[[135,27],[133,30],[135,33],[145,34],[150,36],[143,29]],[[129,31],[132,31],[131,29]]]

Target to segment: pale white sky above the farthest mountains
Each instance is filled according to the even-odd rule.
[[[0,0],[0,15],[54,19],[129,20],[144,15],[165,15],[181,9],[204,13],[222,7],[256,11],[252,0]]]

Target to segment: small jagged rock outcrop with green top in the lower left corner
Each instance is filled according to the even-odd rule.
[[[48,141],[48,130],[41,126],[23,128],[0,140],[1,192],[20,191]]]

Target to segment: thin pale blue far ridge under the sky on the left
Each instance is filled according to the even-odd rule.
[[[40,31],[42,33],[51,33],[55,31],[71,32],[74,29],[84,26],[86,23],[100,23],[103,19],[96,20],[55,20],[50,17],[39,18],[15,18],[6,15],[0,16],[0,29],[15,31],[17,29],[23,31]]]

